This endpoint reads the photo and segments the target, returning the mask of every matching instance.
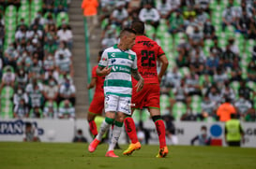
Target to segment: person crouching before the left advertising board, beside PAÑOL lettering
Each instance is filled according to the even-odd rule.
[[[24,142],[39,142],[38,130],[32,125],[31,122],[25,122],[25,130],[23,132],[23,141]]]

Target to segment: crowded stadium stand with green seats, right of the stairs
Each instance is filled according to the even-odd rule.
[[[236,104],[241,120],[255,121],[255,5],[246,0],[101,1],[101,47],[115,43],[131,21],[143,20],[145,34],[157,40],[170,63],[161,82],[162,115],[216,121],[216,109],[228,95],[234,106],[247,103],[243,110]],[[150,18],[142,11],[151,11]]]

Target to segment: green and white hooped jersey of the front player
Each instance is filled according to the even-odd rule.
[[[134,51],[131,49],[124,51],[114,45],[104,50],[98,66],[112,68],[111,73],[105,77],[105,95],[131,97],[131,70],[137,70],[137,56]]]

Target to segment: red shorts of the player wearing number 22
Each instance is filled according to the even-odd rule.
[[[160,87],[156,83],[145,83],[141,92],[132,89],[131,103],[133,108],[154,107],[160,108]]]

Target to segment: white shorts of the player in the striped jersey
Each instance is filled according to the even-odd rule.
[[[131,115],[130,97],[120,97],[118,95],[105,96],[105,112],[122,112]]]

